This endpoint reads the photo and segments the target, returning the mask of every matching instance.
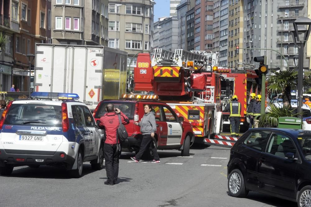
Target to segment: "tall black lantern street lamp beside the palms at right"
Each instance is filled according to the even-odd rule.
[[[304,70],[304,45],[308,41],[310,32],[311,32],[311,19],[308,17],[299,17],[296,19],[293,23],[294,30],[291,31],[291,34],[293,36],[293,40],[295,43],[295,46],[297,46],[297,42],[300,42],[300,48],[299,50],[299,61],[298,61],[298,107],[297,107],[297,113],[302,112],[302,84],[303,84],[303,70]],[[304,26],[307,26],[305,28]],[[300,36],[299,36],[300,35]],[[303,37],[303,39],[301,39]]]

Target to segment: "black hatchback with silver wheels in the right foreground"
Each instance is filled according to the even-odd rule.
[[[230,151],[228,190],[234,197],[257,191],[310,206],[311,131],[248,130]]]

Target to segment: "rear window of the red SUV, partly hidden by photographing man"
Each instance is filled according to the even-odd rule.
[[[102,103],[98,109],[98,111],[95,114],[95,118],[100,118],[104,116],[106,112],[106,106],[107,104],[114,104],[114,108],[120,109],[127,117],[128,119],[132,120],[134,119],[134,108],[135,108],[135,103],[132,102],[113,102],[113,101],[105,101]]]

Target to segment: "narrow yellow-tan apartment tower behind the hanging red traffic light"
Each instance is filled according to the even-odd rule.
[[[243,0],[229,0],[228,9],[220,10],[220,16],[228,14],[228,67],[239,67],[243,54],[236,47],[243,46]],[[226,32],[226,31],[224,31]],[[220,33],[220,36],[223,34]]]

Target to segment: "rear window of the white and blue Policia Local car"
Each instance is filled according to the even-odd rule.
[[[62,107],[43,104],[12,104],[4,124],[62,127]]]

